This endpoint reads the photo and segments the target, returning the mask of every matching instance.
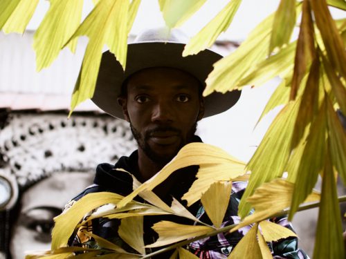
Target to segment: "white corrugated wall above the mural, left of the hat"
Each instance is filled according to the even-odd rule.
[[[0,93],[70,95],[87,39],[79,39],[75,55],[65,49],[52,66],[37,73],[33,34],[33,31],[26,31],[24,35],[0,32]]]

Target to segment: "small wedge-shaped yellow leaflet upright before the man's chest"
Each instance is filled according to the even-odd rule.
[[[203,207],[215,227],[221,227],[224,220],[230,192],[232,191],[232,182],[215,182],[210,185],[208,191],[203,193],[201,202]]]

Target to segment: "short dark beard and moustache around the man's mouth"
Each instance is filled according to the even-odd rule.
[[[192,142],[192,138],[194,136],[194,133],[197,130],[197,122],[195,122],[195,124],[192,126],[192,128],[188,132],[186,139],[185,139],[185,137],[183,137],[183,134],[181,133],[181,131],[179,131],[179,129],[176,129],[176,128],[173,128],[170,126],[156,126],[156,128],[153,128],[149,131],[146,131],[144,136],[141,135],[140,132],[136,130],[136,128],[134,128],[134,126],[131,124],[131,122],[130,122],[130,128],[131,128],[131,132],[134,135],[134,138],[135,138],[138,146],[143,150],[145,155],[147,155],[147,157],[149,157],[149,159],[152,160],[152,162],[165,165],[168,162],[170,162],[170,160],[173,159],[173,157],[181,150],[181,148],[183,146]],[[177,146],[174,153],[172,153],[172,155],[170,155],[170,156],[167,156],[167,155],[164,156],[164,155],[154,151],[148,144],[149,138],[151,137],[151,135],[153,133],[163,132],[163,131],[175,132],[180,137],[180,140],[181,140],[181,142]]]

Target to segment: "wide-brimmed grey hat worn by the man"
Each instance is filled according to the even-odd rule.
[[[125,71],[113,53],[104,52],[92,101],[109,115],[124,119],[122,107],[117,102],[122,84],[127,77],[145,68],[177,68],[193,75],[205,87],[206,78],[212,71],[212,64],[222,56],[206,49],[197,55],[183,57],[183,49],[187,43],[188,37],[180,30],[166,28],[146,30],[138,35],[133,43],[128,44]],[[238,101],[240,92],[239,90],[224,94],[214,92],[206,96],[203,117],[227,111]]]

